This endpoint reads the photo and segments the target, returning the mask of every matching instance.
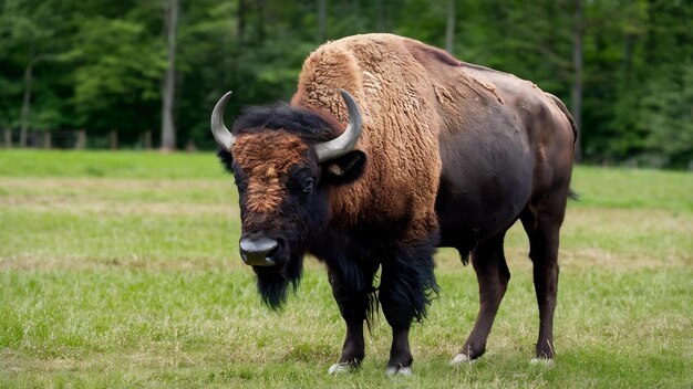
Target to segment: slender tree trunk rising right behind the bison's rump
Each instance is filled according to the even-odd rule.
[[[572,88],[570,91],[571,106],[570,111],[578,134],[582,130],[582,82],[583,82],[583,64],[582,64],[582,35],[585,33],[585,17],[582,0],[575,0],[573,29],[572,29]],[[576,161],[582,159],[582,147],[580,145],[580,136],[576,144]]]

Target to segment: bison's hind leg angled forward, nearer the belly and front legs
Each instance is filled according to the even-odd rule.
[[[510,281],[510,271],[503,252],[505,232],[492,238],[472,252],[472,264],[479,283],[479,312],[464,347],[452,364],[470,361],[486,351],[486,339],[496,318],[498,306]]]

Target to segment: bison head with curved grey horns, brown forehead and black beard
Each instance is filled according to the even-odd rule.
[[[364,154],[354,150],[361,114],[340,91],[349,113],[346,129],[332,128],[316,113],[279,105],[247,111],[229,132],[224,125],[227,93],[214,108],[211,130],[219,157],[234,174],[240,201],[240,256],[252,266],[262,301],[281,307],[289,285],[300,281],[303,255],[329,218],[328,188],[359,178]]]

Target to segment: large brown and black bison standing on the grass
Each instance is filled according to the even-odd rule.
[[[465,264],[470,256],[479,285],[476,323],[452,364],[479,358],[510,278],[504,236],[518,219],[539,305],[536,358],[554,357],[577,139],[557,97],[412,39],[364,34],[321,45],[290,104],[248,108],[231,130],[229,98],[211,129],[238,187],[240,256],[272,308],[298,286],[307,253],[325,264],[346,324],[330,372],[359,367],[364,322],[380,306],[392,327],[386,372],[411,374],[408,332],[438,293],[438,246]]]

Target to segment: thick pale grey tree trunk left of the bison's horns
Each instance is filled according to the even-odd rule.
[[[166,38],[168,43],[168,66],[162,87],[162,149],[176,148],[176,125],[174,123],[174,104],[176,96],[176,31],[178,29],[178,0],[168,0],[166,8]]]

